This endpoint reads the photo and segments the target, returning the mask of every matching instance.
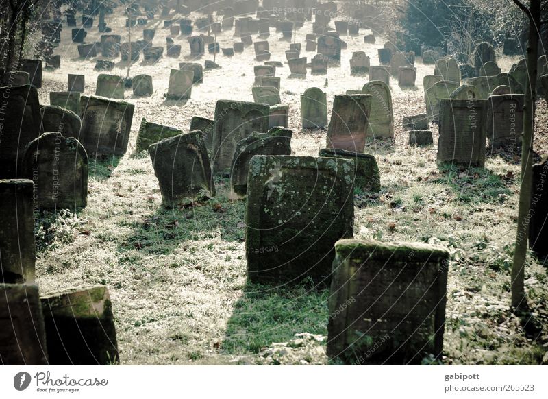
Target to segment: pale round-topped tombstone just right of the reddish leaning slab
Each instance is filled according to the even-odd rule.
[[[362,93],[373,97],[367,134],[373,138],[394,137],[392,95],[388,85],[379,80],[372,80],[363,86]]]

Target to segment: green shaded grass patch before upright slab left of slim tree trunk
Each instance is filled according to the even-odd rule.
[[[488,169],[452,164],[440,164],[438,169],[440,174],[429,182],[447,184],[458,202],[501,204],[512,194],[500,176]]]

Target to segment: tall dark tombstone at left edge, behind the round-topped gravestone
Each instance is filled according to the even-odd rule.
[[[1,87],[0,98],[0,178],[16,178],[25,146],[41,133],[38,90],[29,84]]]

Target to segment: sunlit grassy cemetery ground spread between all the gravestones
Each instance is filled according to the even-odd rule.
[[[123,18],[110,25],[123,31]],[[307,23],[309,24],[309,23]],[[273,29],[271,29],[273,31]],[[297,30],[304,41],[308,25]],[[292,155],[317,156],[325,147],[325,130],[302,130],[300,95],[309,87],[327,92],[331,113],[335,94],[360,90],[366,76],[349,75],[352,51],[365,51],[371,65],[379,64],[376,44],[360,36],[345,36],[340,68],[327,75],[289,79],[284,51],[288,42],[269,38],[271,60],[282,77],[282,104],[290,105],[288,128],[293,130]],[[165,43],[169,29],[158,26],[155,42]],[[50,91],[66,90],[66,74],[86,75],[86,94],[95,93],[99,72],[95,60],[77,58],[69,45],[70,29],[62,32],[62,68],[45,71],[40,104],[49,104]],[[88,40],[99,35],[92,29]],[[96,35],[97,37],[95,37]],[[141,29],[132,36],[141,38]],[[175,43],[187,49],[181,36]],[[233,42],[232,32],[217,37],[221,47]],[[255,39],[254,39],[255,40]],[[314,53],[303,51],[308,61]],[[196,62],[212,60],[206,54]],[[215,177],[216,197],[175,209],[161,205],[147,152],[134,154],[140,120],[188,131],[194,115],[212,118],[217,99],[253,101],[253,47],[225,57],[221,69],[204,71],[203,83],[192,88],[187,101],[166,100],[170,68],[184,56],[147,65],[142,58],[130,76],[153,76],[154,94],[125,99],[135,104],[132,135],[122,158],[90,159],[88,206],[77,214],[38,219],[36,280],[42,295],[81,285],[106,285],[112,297],[116,335],[123,364],[306,364],[327,363],[327,299],[329,290],[303,281],[297,287],[251,285],[246,278],[245,201],[229,201],[229,182]],[[517,59],[502,58],[508,71]],[[379,195],[356,191],[354,236],[379,241],[421,241],[451,252],[447,286],[444,364],[540,364],[548,350],[547,269],[543,260],[528,256],[525,288],[531,313],[510,311],[510,266],[516,234],[519,192],[519,149],[490,154],[485,169],[438,167],[434,145],[410,147],[401,127],[403,116],[424,112],[423,76],[433,65],[417,60],[419,87],[402,90],[391,80],[395,140],[369,138],[366,152],[377,158],[381,174]],[[125,76],[125,62],[112,74]],[[325,86],[327,78],[327,86]],[[535,151],[548,151],[547,107],[538,101]],[[313,336],[295,337],[298,333]],[[310,338],[310,339],[308,339]],[[276,345],[274,343],[287,343]],[[270,347],[270,348],[269,348]],[[269,349],[265,349],[269,348]],[[544,357],[544,359],[543,359]]]

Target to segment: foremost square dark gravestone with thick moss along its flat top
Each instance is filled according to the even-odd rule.
[[[441,357],[449,252],[421,243],[335,244],[327,355],[344,364]]]

